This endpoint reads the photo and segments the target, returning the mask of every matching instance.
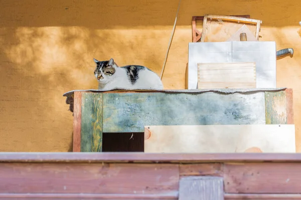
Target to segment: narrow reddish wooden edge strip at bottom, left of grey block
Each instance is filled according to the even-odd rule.
[[[80,192],[80,191],[79,191]],[[0,193],[0,198],[120,198],[120,199],[178,199],[178,192],[159,194],[121,194],[121,193]]]

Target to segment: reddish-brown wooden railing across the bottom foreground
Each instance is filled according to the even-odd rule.
[[[300,167],[299,153],[3,152],[0,199],[301,199]]]

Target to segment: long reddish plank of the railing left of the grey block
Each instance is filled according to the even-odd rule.
[[[179,190],[177,164],[0,163],[0,193],[167,195]]]

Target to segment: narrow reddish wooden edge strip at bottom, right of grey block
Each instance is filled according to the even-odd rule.
[[[301,199],[301,194],[225,193],[225,199]]]

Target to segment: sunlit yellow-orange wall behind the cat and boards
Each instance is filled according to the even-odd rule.
[[[177,6],[178,0],[1,0],[0,151],[70,151],[73,117],[63,93],[97,88],[93,57],[160,74]],[[262,20],[260,40],[294,48],[293,58],[277,61],[277,86],[293,88],[301,141],[300,10],[301,1],[182,0],[165,88],[185,87],[193,15],[250,14]]]

